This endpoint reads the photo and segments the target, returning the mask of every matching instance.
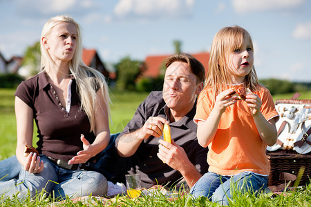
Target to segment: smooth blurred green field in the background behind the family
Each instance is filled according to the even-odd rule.
[[[16,121],[14,111],[15,89],[0,88],[0,160],[15,155]],[[132,119],[136,108],[149,93],[111,91],[111,133],[121,132],[124,126]],[[294,93],[275,95],[276,99],[290,99]],[[299,99],[311,99],[311,92],[302,92]],[[37,142],[37,128],[34,128],[34,145]]]

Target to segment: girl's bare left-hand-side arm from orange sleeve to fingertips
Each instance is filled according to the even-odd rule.
[[[216,134],[221,115],[223,115],[227,106],[236,103],[234,97],[228,96],[232,92],[234,92],[232,89],[220,92],[216,97],[214,108],[211,110],[206,121],[198,121],[197,137],[200,146],[206,148],[209,145]]]

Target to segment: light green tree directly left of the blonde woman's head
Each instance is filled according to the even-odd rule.
[[[23,56],[22,66],[26,66],[30,70],[30,74],[35,75],[40,70],[40,42],[37,41],[32,46],[28,46]]]

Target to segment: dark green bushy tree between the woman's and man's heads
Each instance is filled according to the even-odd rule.
[[[116,64],[117,88],[120,90],[135,90],[135,79],[140,75],[142,61],[132,60],[126,56]]]

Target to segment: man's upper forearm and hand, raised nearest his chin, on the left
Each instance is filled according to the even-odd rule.
[[[160,137],[162,135],[163,124],[168,124],[168,121],[162,117],[149,117],[142,128],[120,137],[117,142],[117,153],[120,157],[134,155],[144,139],[150,136]]]

